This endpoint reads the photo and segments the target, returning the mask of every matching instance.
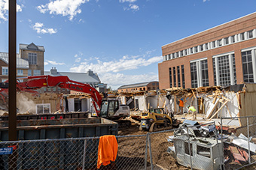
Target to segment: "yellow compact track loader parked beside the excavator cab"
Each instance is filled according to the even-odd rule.
[[[173,115],[169,116],[163,108],[148,109],[148,112],[142,114],[139,130],[148,130],[149,132],[169,130],[176,123]]]

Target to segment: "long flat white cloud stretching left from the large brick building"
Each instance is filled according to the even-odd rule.
[[[137,56],[128,58],[123,56],[118,61],[100,61],[97,59],[97,63],[88,63],[87,61],[81,62],[80,65],[72,67],[70,70],[74,72],[87,72],[88,69],[95,71],[96,73],[109,73],[120,72],[123,70],[134,70],[139,67],[148,66],[153,63],[162,61],[162,56],[156,56],[149,59],[138,58]]]

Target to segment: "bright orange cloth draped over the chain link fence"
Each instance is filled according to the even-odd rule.
[[[117,139],[113,135],[101,136],[99,138],[97,168],[107,166],[117,158]]]

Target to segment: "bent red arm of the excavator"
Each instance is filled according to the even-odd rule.
[[[99,117],[99,109],[102,104],[102,97],[100,96],[99,92],[91,85],[75,82],[69,79],[68,76],[28,76],[27,79],[27,82],[17,82],[17,90],[32,91],[43,87],[58,86],[59,88],[67,88],[72,91],[80,91],[89,94],[93,99],[93,106]]]

